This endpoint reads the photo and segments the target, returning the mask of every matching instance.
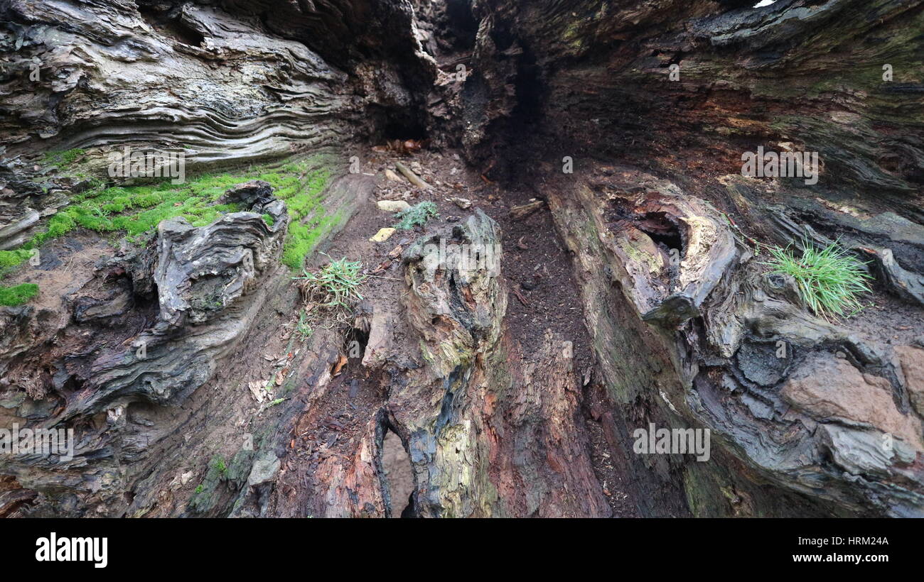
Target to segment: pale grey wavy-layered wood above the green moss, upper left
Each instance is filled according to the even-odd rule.
[[[5,2],[7,155],[147,142],[240,161],[413,118],[433,66],[410,6],[314,4]]]

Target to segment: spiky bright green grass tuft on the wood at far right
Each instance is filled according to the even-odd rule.
[[[869,293],[869,274],[854,256],[834,242],[819,249],[808,239],[802,240],[802,254],[796,250],[770,247],[771,258],[762,263],[774,273],[796,279],[799,296],[815,315],[830,319],[834,315],[856,315],[863,309],[860,295]]]

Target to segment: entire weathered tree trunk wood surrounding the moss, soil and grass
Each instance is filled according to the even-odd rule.
[[[430,263],[500,243],[474,208],[398,244],[346,338],[305,339],[279,260],[311,215],[237,184],[207,224],[43,246],[42,294],[0,307],[0,426],[73,428],[77,455],[0,459],[0,516],[608,516],[585,416],[643,516],[921,516],[924,2],[734,4],[0,3],[0,249],[126,146],[189,172],[334,146],[328,249],[371,212],[359,141],[427,137],[547,203],[596,358],[517,336],[509,249]],[[819,152],[818,183],[742,176],[759,147]],[[43,159],[73,148],[79,173]],[[880,308],[811,315],[755,255],[803,237],[865,257]],[[650,423],[710,429],[709,460],[637,454]]]

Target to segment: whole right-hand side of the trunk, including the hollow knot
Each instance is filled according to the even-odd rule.
[[[496,175],[531,168],[587,273],[612,407],[595,413],[624,444],[648,422],[712,431],[709,463],[628,454],[664,497],[643,512],[921,515],[920,387],[902,372],[921,339],[815,318],[753,256],[755,239],[840,238],[919,320],[921,3],[486,1],[476,14],[464,142],[517,164]],[[821,180],[743,177],[758,146],[820,152]],[[897,445],[875,446],[885,435]]]

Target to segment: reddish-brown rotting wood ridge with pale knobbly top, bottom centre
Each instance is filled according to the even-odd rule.
[[[317,382],[282,461],[293,470],[267,515],[399,512],[407,500],[390,498],[378,466],[386,429],[409,453],[416,517],[609,515],[587,454],[570,342],[548,330],[541,352],[524,359],[505,330],[500,265],[439,264],[428,245],[441,240],[493,248],[500,232],[478,211],[405,251],[403,309],[387,295],[363,307],[364,355],[339,385],[329,374]]]

